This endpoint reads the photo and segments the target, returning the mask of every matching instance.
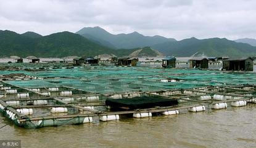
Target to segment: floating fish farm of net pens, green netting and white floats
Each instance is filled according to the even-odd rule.
[[[9,64],[0,71],[0,111],[23,128],[211,112],[256,103],[255,74]]]

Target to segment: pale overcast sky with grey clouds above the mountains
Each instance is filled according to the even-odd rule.
[[[50,35],[96,26],[178,40],[256,38],[256,1],[0,0],[0,30]]]

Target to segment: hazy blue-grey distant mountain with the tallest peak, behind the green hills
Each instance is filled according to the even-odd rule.
[[[99,43],[104,46],[115,47],[116,49],[132,49],[136,47],[152,46],[167,41],[176,41],[175,39],[168,39],[163,36],[144,36],[136,31],[128,34],[112,35],[100,27],[85,27],[76,33],[85,36],[85,38],[99,41]]]

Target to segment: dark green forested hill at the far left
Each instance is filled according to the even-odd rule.
[[[68,55],[112,54],[114,49],[96,44],[83,36],[64,31],[41,38],[30,38],[13,31],[0,31],[2,56],[64,57]]]

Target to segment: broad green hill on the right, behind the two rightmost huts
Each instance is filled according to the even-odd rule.
[[[252,56],[256,55],[256,47],[249,44],[236,43],[226,38],[196,39],[189,38],[176,42],[155,44],[154,49],[165,55],[191,56],[193,54],[205,54],[208,56]]]

